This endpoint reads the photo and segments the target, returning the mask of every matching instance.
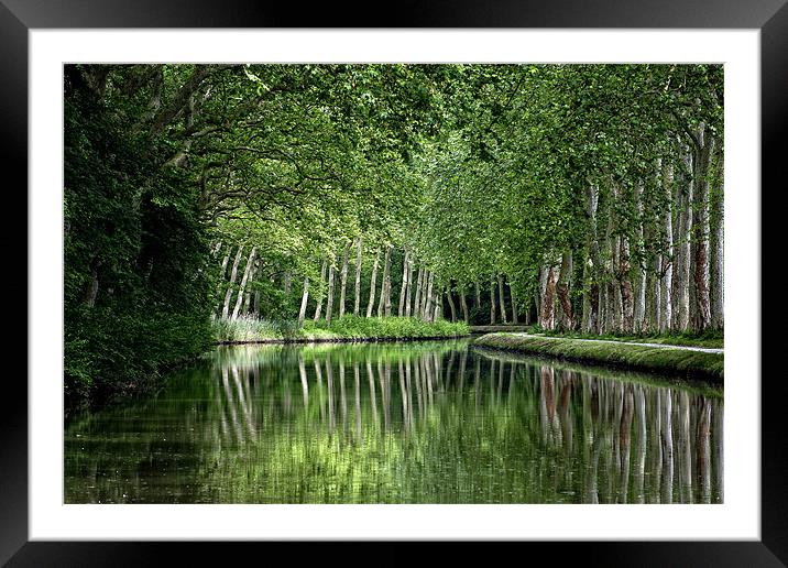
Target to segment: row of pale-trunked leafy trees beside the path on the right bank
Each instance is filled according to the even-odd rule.
[[[548,329],[722,329],[721,66],[478,73],[422,164],[444,277],[462,293],[503,274]]]

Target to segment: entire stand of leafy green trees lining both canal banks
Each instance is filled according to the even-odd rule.
[[[721,66],[69,65],[64,89],[68,384],[194,354],[211,314],[723,327]]]

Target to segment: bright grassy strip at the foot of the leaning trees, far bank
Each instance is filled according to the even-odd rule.
[[[469,334],[463,323],[434,323],[408,317],[342,316],[326,325],[325,319],[307,320],[299,328],[297,321],[271,321],[253,317],[214,321],[214,337],[219,342],[244,341],[350,341],[392,339],[437,339],[462,337]]]

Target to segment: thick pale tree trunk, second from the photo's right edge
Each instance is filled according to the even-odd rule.
[[[714,138],[707,132],[701,122],[696,133],[696,181],[692,199],[692,260],[694,262],[692,280],[694,284],[694,310],[691,326],[696,332],[711,326],[711,302],[709,297],[709,174],[711,156],[714,151]]]

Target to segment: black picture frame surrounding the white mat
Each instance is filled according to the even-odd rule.
[[[782,186],[781,162],[788,156],[788,0],[440,0],[405,1],[377,10],[342,8],[332,3],[305,9],[287,2],[253,0],[0,0],[0,140],[3,177],[18,179],[13,192],[25,210],[25,195],[19,187],[28,183],[28,32],[32,29],[103,28],[608,28],[608,29],[754,29],[760,31],[762,73],[762,186],[773,194]],[[379,7],[380,8],[380,7]],[[780,184],[779,186],[777,184]],[[10,184],[6,186],[10,188]],[[754,198],[764,192],[751,188]],[[9,206],[9,201],[6,201]],[[763,204],[763,201],[762,201]],[[11,209],[7,209],[11,210]],[[762,205],[762,243],[773,242],[765,229],[779,227],[768,222],[768,208]],[[777,215],[773,209],[770,215]],[[774,219],[771,219],[774,220]],[[8,238],[8,236],[7,236]],[[14,241],[15,242],[15,241]],[[22,248],[14,249],[21,256]],[[26,247],[25,247],[26,252]],[[762,255],[762,258],[765,258]],[[12,265],[26,265],[26,256]],[[20,272],[20,271],[18,271]],[[12,278],[9,278],[12,280]],[[762,284],[762,297],[777,285]],[[7,297],[26,294],[28,281],[13,278]],[[24,288],[22,291],[21,288]],[[784,291],[775,291],[779,294]],[[28,296],[28,302],[31,298]],[[764,329],[752,330],[765,336]],[[766,368],[764,368],[765,370]],[[762,372],[766,376],[766,373]],[[758,381],[760,378],[742,378]],[[771,379],[771,380],[769,380]],[[762,381],[762,539],[758,542],[582,542],[527,543],[534,551],[555,555],[561,549],[593,566],[786,566],[788,562],[788,502],[786,500],[786,444],[782,439],[778,405],[785,381],[777,374]],[[0,562],[8,566],[146,566],[167,561],[175,554],[179,565],[203,565],[217,547],[231,555],[252,553],[264,546],[266,556],[292,546],[288,543],[86,543],[29,542],[28,538],[28,386],[19,374],[7,376],[0,413]],[[462,558],[467,543],[445,546],[444,562]],[[210,545],[210,546],[209,546]],[[383,544],[379,560],[407,561],[413,558],[409,543]],[[300,545],[299,545],[300,546]],[[343,551],[359,543],[336,544],[329,555],[348,558]],[[337,550],[340,548],[340,550]],[[540,550],[538,548],[541,548]],[[166,553],[166,554],[165,554]],[[501,550],[500,554],[507,554]],[[516,553],[522,555],[522,553]],[[336,556],[335,556],[336,555]],[[269,556],[271,557],[271,556]],[[455,557],[455,558],[451,558]]]

